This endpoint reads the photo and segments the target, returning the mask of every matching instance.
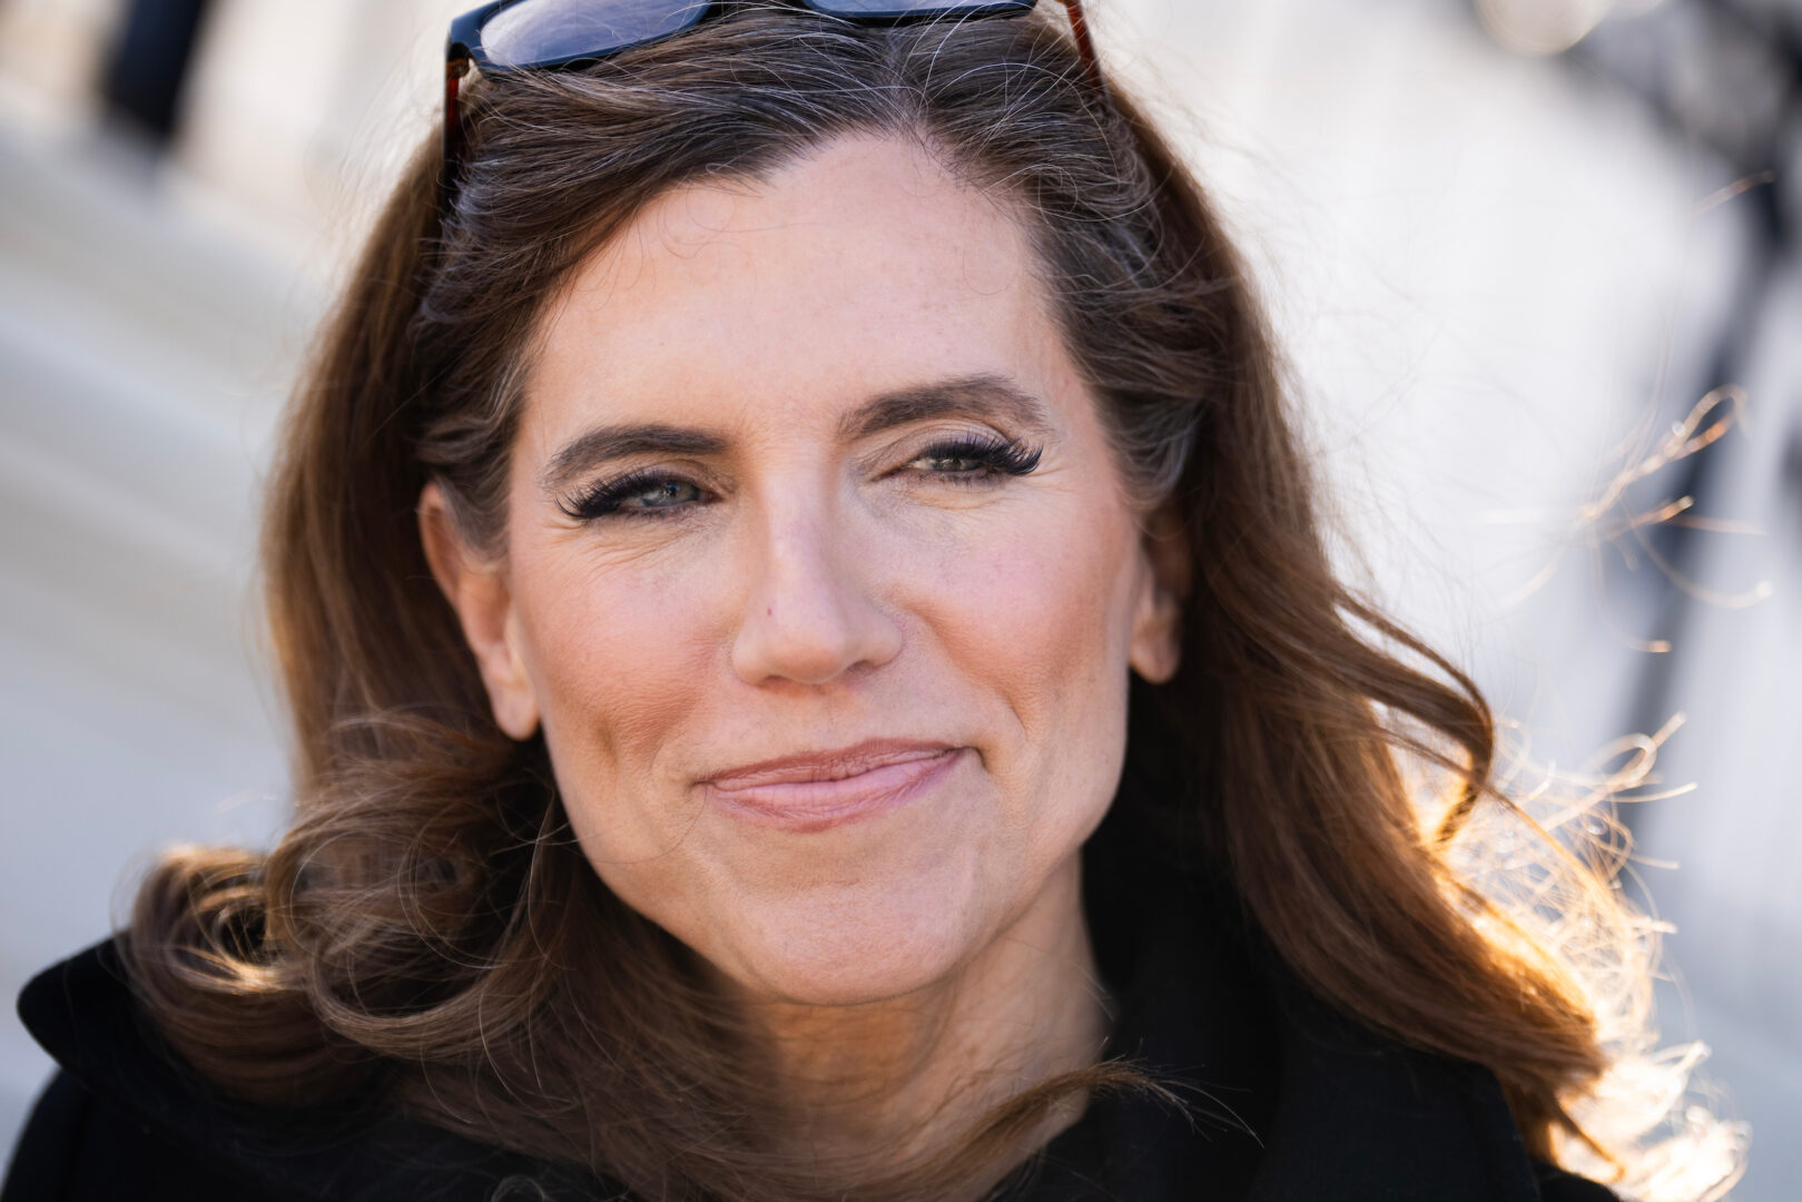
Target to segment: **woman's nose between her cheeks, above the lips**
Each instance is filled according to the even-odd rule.
[[[732,645],[750,685],[822,685],[901,651],[901,627],[874,595],[874,564],[827,514],[769,517],[757,535],[751,586]]]

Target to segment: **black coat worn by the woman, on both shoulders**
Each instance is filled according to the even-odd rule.
[[[1409,1051],[1315,1000],[1206,887],[1150,872],[1155,842],[1117,815],[1083,849],[1083,905],[1115,998],[1110,1052],[1177,1081],[1191,1115],[1097,1097],[1007,1202],[1609,1202],[1528,1159],[1496,1078]],[[117,946],[20,997],[61,1063],[0,1202],[622,1198],[568,1170],[378,1108],[231,1103],[139,1009]],[[505,1191],[503,1182],[535,1180]]]

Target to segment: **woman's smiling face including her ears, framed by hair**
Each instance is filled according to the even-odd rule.
[[[546,314],[481,564],[434,569],[587,860],[753,997],[879,1000],[1020,919],[1173,670],[1025,236],[919,148],[692,186]]]

